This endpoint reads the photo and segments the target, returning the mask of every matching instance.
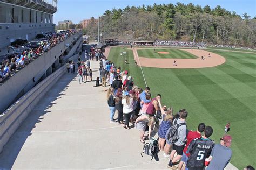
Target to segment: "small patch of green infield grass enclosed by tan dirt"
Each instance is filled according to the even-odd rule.
[[[146,58],[173,58],[173,59],[196,59],[197,56],[179,49],[138,49],[138,55]],[[159,54],[158,52],[169,52],[169,54]]]

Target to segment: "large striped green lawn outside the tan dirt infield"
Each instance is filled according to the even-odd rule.
[[[134,65],[132,51],[126,51],[127,65],[120,57],[120,47],[111,49],[109,59],[123,70],[129,70],[134,83],[144,88],[142,72]],[[250,53],[212,52],[224,56],[226,62],[217,67],[200,69],[143,67],[147,86],[151,88],[152,96],[161,94],[162,103],[172,106],[175,112],[188,110],[188,129],[196,130],[201,122],[211,125],[214,129],[211,138],[217,144],[224,134],[226,123],[230,122],[229,134],[233,137],[231,163],[239,169],[247,165],[255,166],[256,56]]]

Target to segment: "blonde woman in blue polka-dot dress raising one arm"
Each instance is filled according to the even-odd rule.
[[[159,107],[161,110],[161,114],[162,114],[162,122],[159,126],[158,129],[158,145],[159,145],[159,149],[161,151],[164,151],[164,157],[168,157],[168,153],[170,152],[171,146],[168,145],[166,143],[165,145],[165,136],[167,133],[167,130],[171,127],[172,125],[172,120],[173,120],[173,109],[172,107],[168,108],[165,112],[165,110],[163,109],[160,100],[158,100],[159,103]]]

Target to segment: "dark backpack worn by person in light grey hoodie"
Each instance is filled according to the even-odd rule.
[[[174,119],[172,126],[167,130],[165,139],[169,144],[173,144],[179,139],[177,129],[182,125],[186,126],[185,122],[177,124],[177,121],[178,121],[178,118]]]

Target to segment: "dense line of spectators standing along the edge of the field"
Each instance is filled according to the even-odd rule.
[[[215,144],[215,141],[210,139],[213,134],[211,126],[199,123],[196,129],[188,130],[186,109],[174,114],[172,107],[166,107],[161,103],[160,94],[152,97],[149,87],[143,90],[134,85],[127,70],[122,71],[111,61],[104,60],[103,64],[100,64],[100,73],[102,86],[105,86],[105,79],[110,84],[107,90],[110,123],[116,123],[114,114],[117,110],[118,124],[123,125],[125,129],[135,126],[139,130],[139,142],[143,144],[153,136],[152,131],[158,129],[158,147],[163,151],[165,158],[170,158],[168,168],[224,169],[231,160],[232,137],[226,130],[218,144]],[[177,136],[171,140],[168,133],[173,128],[176,128]]]

